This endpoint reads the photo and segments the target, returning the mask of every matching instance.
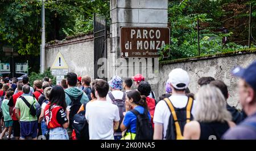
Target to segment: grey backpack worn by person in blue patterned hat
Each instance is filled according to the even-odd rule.
[[[110,92],[109,94],[109,98],[112,100],[112,103],[115,104],[118,107],[119,110],[119,116],[120,116],[120,121],[123,121],[123,112],[125,112],[125,96],[126,94],[123,93],[123,98],[122,99],[115,99],[113,94]],[[120,129],[120,125],[118,126],[118,129],[116,132],[122,132]]]

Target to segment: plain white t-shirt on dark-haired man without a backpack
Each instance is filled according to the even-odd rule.
[[[85,118],[90,140],[114,140],[114,121],[119,121],[118,107],[108,101],[95,100],[86,104]]]

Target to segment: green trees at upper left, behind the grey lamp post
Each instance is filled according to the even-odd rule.
[[[0,51],[10,45],[21,55],[38,56],[42,0],[2,0],[0,6]],[[46,41],[92,32],[94,12],[109,18],[109,1],[47,0],[45,8]]]

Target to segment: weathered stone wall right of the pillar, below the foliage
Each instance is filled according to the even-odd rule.
[[[241,108],[238,103],[238,94],[236,85],[238,78],[232,77],[230,71],[235,66],[242,66],[245,68],[251,62],[256,60],[256,53],[242,53],[232,54],[229,56],[213,56],[203,57],[199,59],[192,59],[178,62],[165,62],[159,66],[159,94],[165,93],[165,83],[168,79],[168,74],[172,69],[182,68],[186,70],[190,77],[189,89],[192,93],[197,92],[197,80],[200,77],[210,76],[224,81],[228,86],[229,99],[228,103],[231,106]]]

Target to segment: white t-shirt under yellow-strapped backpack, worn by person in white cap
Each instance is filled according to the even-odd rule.
[[[171,95],[169,98],[176,108],[183,108],[188,103],[188,97],[185,95]],[[192,106],[192,115],[195,115],[195,104],[196,101],[194,100],[193,106]],[[166,137],[167,127],[169,123],[171,112],[168,108],[166,102],[164,100],[160,100],[158,104],[156,104],[155,107],[155,113],[154,113],[154,123],[163,124],[163,139]]]

